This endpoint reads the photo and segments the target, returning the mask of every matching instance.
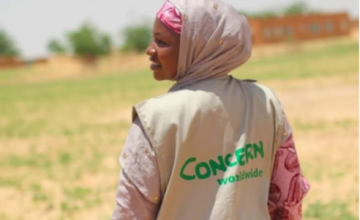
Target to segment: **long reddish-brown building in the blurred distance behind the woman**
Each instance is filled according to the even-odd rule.
[[[349,36],[347,13],[249,19],[254,45]]]

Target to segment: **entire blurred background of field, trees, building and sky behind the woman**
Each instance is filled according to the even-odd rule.
[[[304,219],[360,219],[360,1],[229,0],[237,78],[275,89],[312,185]],[[162,94],[144,49],[162,0],[0,0],[0,219],[110,219],[132,105]]]

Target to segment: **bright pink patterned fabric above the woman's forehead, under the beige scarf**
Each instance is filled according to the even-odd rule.
[[[180,34],[182,29],[181,13],[173,4],[166,1],[156,14],[156,17],[175,33]]]

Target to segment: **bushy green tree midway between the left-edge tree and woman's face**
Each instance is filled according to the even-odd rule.
[[[85,23],[78,30],[67,36],[73,53],[85,59],[96,59],[111,52],[110,36],[101,33],[89,23]]]

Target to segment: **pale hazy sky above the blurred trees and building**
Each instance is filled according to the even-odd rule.
[[[194,0],[196,1],[196,0]],[[236,9],[261,11],[286,6],[297,0],[224,0]],[[346,11],[360,18],[360,0],[302,0],[322,11]],[[152,23],[164,0],[0,0],[0,29],[16,42],[23,57],[48,54],[52,38],[65,40],[69,31],[89,21],[121,43],[121,30],[127,25]]]

